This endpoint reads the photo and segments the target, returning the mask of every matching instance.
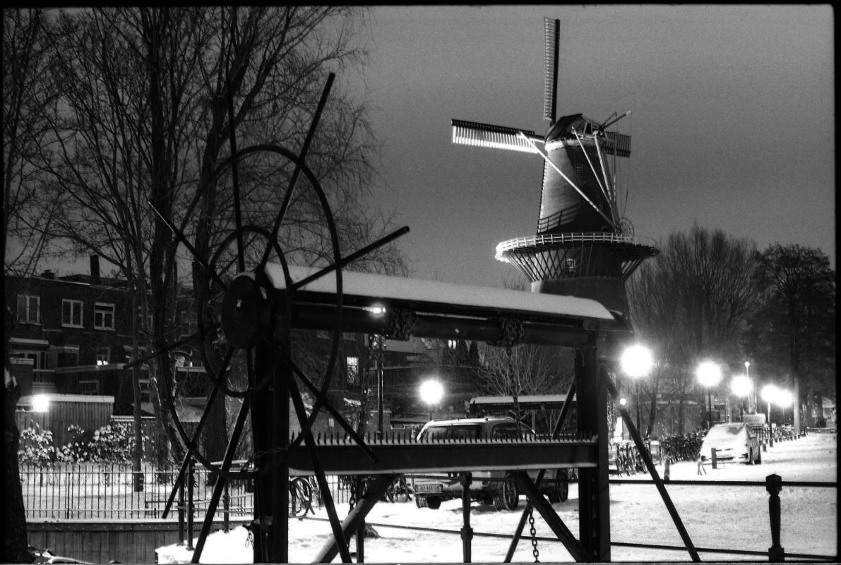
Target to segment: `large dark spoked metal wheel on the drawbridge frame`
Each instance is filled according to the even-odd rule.
[[[275,162],[270,165],[272,161]],[[277,161],[288,161],[291,166]],[[220,167],[217,177],[230,175],[233,166],[247,167],[249,170],[262,166],[278,172],[288,171],[294,166],[301,172],[300,176],[304,177],[307,186],[289,186],[283,198],[277,202],[280,209],[273,219],[273,225],[278,236],[273,237],[269,230],[253,224],[236,226],[220,240],[209,241],[207,247],[213,247],[210,261],[204,262],[202,257],[196,256],[198,251],[183,244],[169,257],[165,269],[167,288],[175,288],[177,285],[172,280],[172,274],[177,272],[179,261],[204,262],[202,272],[193,272],[194,290],[198,287],[198,292],[194,293],[198,303],[195,304],[197,331],[185,338],[182,337],[182,328],[167,323],[173,314],[177,318],[184,313],[182,304],[189,304],[189,300],[179,301],[176,293],[173,301],[161,305],[158,312],[159,343],[161,351],[166,351],[167,356],[161,359],[159,367],[167,392],[165,404],[189,455],[211,473],[226,478],[230,478],[232,473],[230,462],[225,465],[218,456],[208,457],[204,446],[198,441],[202,432],[210,427],[209,422],[213,422],[213,415],[224,415],[231,411],[237,414],[226,451],[247,457],[247,451],[254,448],[248,434],[244,433],[253,420],[249,416],[255,402],[264,401],[262,399],[266,395],[261,397],[260,393],[267,390],[273,370],[283,365],[294,375],[294,378],[288,379],[288,387],[295,412],[299,413],[300,428],[309,430],[325,406],[341,340],[342,258],[336,225],[315,175],[291,151],[275,146],[257,146],[240,151]],[[242,207],[245,208],[245,205]],[[248,215],[251,214],[235,210],[237,219]],[[289,258],[296,257],[288,257],[290,253],[278,244],[278,240],[284,240],[284,236],[288,239],[294,232],[296,222],[302,221],[323,224],[322,241],[326,240],[329,245],[322,243],[320,264],[323,267],[316,269],[315,278],[330,277],[336,288],[331,314],[333,327],[327,330],[329,344],[322,344],[322,351],[326,351],[323,356],[325,363],[320,367],[323,371],[320,378],[310,378],[307,368],[312,372],[314,367],[304,368],[304,362],[295,358],[292,344],[304,338],[296,335],[288,325],[295,315],[295,293],[303,286],[301,282],[304,278],[311,278],[311,273],[291,270]],[[184,219],[185,228],[178,234],[179,240],[188,241],[183,234],[191,222],[190,218]],[[297,255],[301,254],[301,251],[297,252]],[[301,260],[300,257],[298,259]],[[257,367],[258,349],[263,356],[262,367]],[[193,367],[186,367],[186,361],[182,361],[186,358],[197,359],[198,362],[190,362]],[[204,368],[204,372],[194,370],[196,365]],[[197,373],[204,375],[204,383],[200,382]],[[204,391],[201,389],[203,386]],[[204,411],[198,423],[193,420],[188,425],[184,415],[189,415],[190,410],[185,407],[181,397],[201,396],[202,392],[207,398]],[[304,413],[304,402],[313,406],[309,415]],[[304,435],[299,435],[293,447],[300,446],[303,440]],[[257,467],[238,469],[234,473],[241,477],[242,473],[269,472],[266,461],[261,463]]]

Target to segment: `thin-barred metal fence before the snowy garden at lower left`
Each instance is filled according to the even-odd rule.
[[[178,476],[178,467],[140,467],[143,490],[135,492],[135,473],[130,463],[56,463],[45,467],[21,465],[27,518],[132,519],[160,518]],[[193,508],[204,515],[213,493],[212,475],[203,467],[193,474]],[[336,504],[349,499],[346,482],[328,476]],[[254,494],[246,480],[228,485],[229,517],[254,515]],[[170,516],[176,517],[176,496]],[[220,514],[222,505],[217,514]]]

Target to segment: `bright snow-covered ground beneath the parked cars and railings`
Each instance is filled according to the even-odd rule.
[[[837,437],[835,434],[814,434],[794,441],[775,443],[762,454],[761,465],[727,463],[706,475],[697,475],[695,462],[678,462],[670,467],[672,480],[702,479],[722,481],[760,481],[771,473],[783,481],[836,482],[838,480]],[[658,466],[660,476],[664,467]],[[611,478],[615,478],[611,476]],[[622,477],[626,478],[626,477]],[[637,473],[632,479],[648,478]],[[570,486],[569,500],[553,504],[563,522],[578,535],[577,488]],[[696,486],[669,485],[668,491],[692,543],[699,548],[703,561],[767,561],[771,545],[768,514],[768,493],[764,486]],[[653,484],[611,484],[611,541],[615,543],[650,543],[683,547],[674,522]],[[836,556],[837,488],[783,487],[781,545],[786,560],[792,553]],[[521,498],[521,508],[525,498]],[[336,509],[343,518],[346,505]],[[473,562],[502,562],[510,544],[509,537],[520,520],[521,509],[497,511],[493,506],[473,503],[470,512],[473,527]],[[368,515],[368,523],[379,538],[366,538],[366,562],[463,562],[462,508],[458,500],[450,500],[439,510],[419,509],[414,502],[380,503]],[[537,537],[553,536],[552,531],[535,513]],[[395,527],[399,526],[399,527]],[[406,526],[441,529],[452,533],[412,530]],[[312,562],[325,541],[332,539],[325,510],[316,512],[315,520],[289,521],[290,562]],[[541,562],[573,561],[559,541],[539,539]],[[738,549],[765,552],[762,555],[739,555],[703,552],[704,548]],[[355,550],[351,541],[351,551]],[[157,550],[159,562],[189,562],[191,552],[184,547],[167,546]],[[613,546],[612,561],[689,561],[689,553],[651,548]],[[336,562],[341,561],[338,557]],[[533,562],[528,526],[514,557],[515,562]],[[201,562],[251,562],[251,547],[242,527],[228,534],[209,536]]]

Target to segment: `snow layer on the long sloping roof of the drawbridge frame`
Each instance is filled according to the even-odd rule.
[[[318,272],[315,267],[289,266],[293,281],[300,281]],[[275,288],[286,288],[283,267],[268,263],[266,274]],[[611,313],[590,298],[530,293],[503,288],[474,287],[465,284],[441,283],[418,278],[388,277],[368,272],[343,271],[342,293],[367,298],[411,300],[432,304],[454,304],[489,309],[521,310],[537,314],[554,314],[575,318],[613,320]],[[335,293],[336,278],[320,277],[302,289],[315,293]]]

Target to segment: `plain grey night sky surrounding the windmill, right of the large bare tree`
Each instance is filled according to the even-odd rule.
[[[561,21],[558,115],[632,112],[618,187],[638,241],[697,221],[760,249],[820,247],[835,267],[828,5],[378,7],[353,80],[412,276],[516,278],[495,246],[537,231],[542,159],[452,145],[450,119],[545,133],[544,16]]]

